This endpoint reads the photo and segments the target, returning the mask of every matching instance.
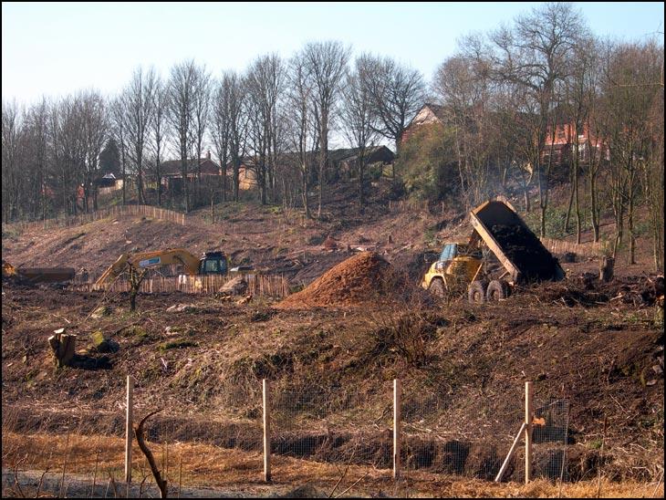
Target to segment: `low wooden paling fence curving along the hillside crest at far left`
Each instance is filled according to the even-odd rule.
[[[161,221],[171,221],[175,224],[185,225],[186,216],[180,212],[166,210],[150,205],[118,205],[109,208],[103,208],[89,214],[71,215],[69,217],[57,217],[55,219],[45,219],[43,221],[4,224],[6,229],[17,229],[21,231],[35,231],[40,229],[50,229],[52,227],[70,227],[75,225],[88,224],[108,217],[120,217],[123,215],[140,215],[143,217],[152,217]]]

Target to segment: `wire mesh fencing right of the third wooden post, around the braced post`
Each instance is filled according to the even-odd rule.
[[[459,421],[451,419],[452,412],[446,411],[454,402],[437,394],[404,395],[405,474],[426,470],[494,481],[525,422],[524,401],[510,401],[501,414],[470,411]],[[568,401],[536,403],[534,415],[531,476],[567,480]],[[518,435],[519,445],[506,464],[500,478],[503,481],[525,479],[524,433]]]

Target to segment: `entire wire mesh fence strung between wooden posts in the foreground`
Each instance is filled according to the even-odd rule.
[[[205,411],[163,399],[158,386],[140,383],[133,392],[133,428],[151,411],[161,410],[146,422],[143,435],[172,495],[201,485],[261,483],[265,411],[273,477],[294,474],[302,461],[308,466],[367,466],[387,474],[393,467],[395,394],[390,381],[363,397],[353,388],[276,383],[264,406],[256,380],[221,380],[207,395]],[[524,481],[524,401],[509,401],[501,414],[482,410],[463,419],[451,417],[460,401],[445,394],[410,389],[399,401],[401,477],[426,472],[494,481],[506,460],[501,479]],[[50,481],[78,494],[101,496],[114,488],[125,493],[126,411],[124,399],[106,411],[4,406],[3,466],[44,471]],[[568,481],[568,401],[536,401],[532,414],[532,478]],[[506,459],[516,434],[520,444]],[[131,471],[132,496],[158,495],[135,438]]]

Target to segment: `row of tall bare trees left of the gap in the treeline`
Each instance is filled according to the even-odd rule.
[[[350,56],[340,42],[315,42],[288,60],[257,57],[244,72],[219,78],[188,60],[167,77],[136,68],[127,87],[108,99],[90,90],[27,109],[4,101],[3,218],[96,209],[95,181],[108,170],[133,182],[138,203],[146,203],[150,184],[151,202],[161,205],[162,165],[171,159],[183,179],[193,177],[179,193],[185,211],[209,203],[211,195],[238,201],[243,166],[252,170],[261,203],[299,204],[308,216],[320,214],[332,130],[359,149],[363,204],[366,152],[380,140],[400,142],[425,83],[389,57],[362,54],[351,64]],[[202,193],[206,148],[223,171],[208,198]],[[123,182],[122,203],[128,187]]]

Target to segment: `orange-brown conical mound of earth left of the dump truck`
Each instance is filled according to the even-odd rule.
[[[276,307],[354,307],[387,296],[390,264],[375,252],[362,252],[332,267]]]

